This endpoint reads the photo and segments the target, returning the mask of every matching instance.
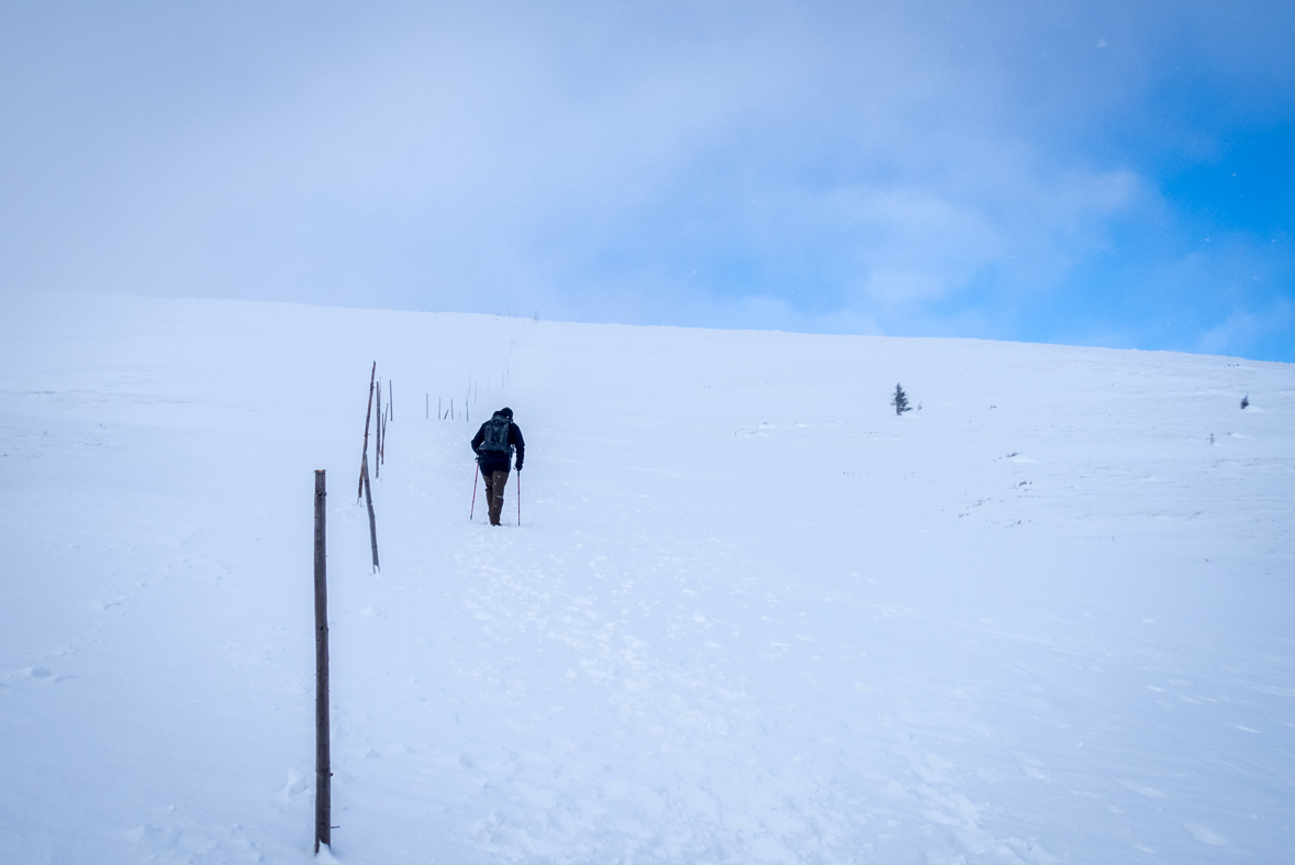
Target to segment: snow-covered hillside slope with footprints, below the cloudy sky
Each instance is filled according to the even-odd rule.
[[[0,337],[5,862],[310,860],[313,469],[341,862],[1291,861],[1291,365],[104,297]]]

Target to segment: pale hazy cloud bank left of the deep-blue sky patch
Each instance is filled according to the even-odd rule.
[[[0,159],[0,277],[982,328],[975,291],[1044,293],[1109,246],[1112,216],[1154,210],[1151,184],[1076,144],[1140,104],[1149,61],[1116,38],[1124,13],[927,12],[379,4],[319,9],[307,28],[265,4],[255,26],[105,25],[98,53],[31,25],[22,62],[61,76],[0,100],[31,119],[0,144],[22,157]],[[60,161],[28,158],[75,136],[51,145]]]

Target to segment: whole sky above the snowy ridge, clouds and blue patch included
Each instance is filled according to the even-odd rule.
[[[5,3],[0,286],[1295,361],[1291,3]]]

